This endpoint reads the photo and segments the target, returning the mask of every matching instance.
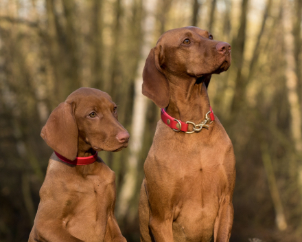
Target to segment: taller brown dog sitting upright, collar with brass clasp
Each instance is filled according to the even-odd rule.
[[[207,85],[230,65],[231,46],[195,27],[165,32],[151,50],[143,94],[167,108],[144,165],[141,241],[229,241],[235,156]]]

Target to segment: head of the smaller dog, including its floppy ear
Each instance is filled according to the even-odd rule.
[[[117,120],[117,105],[104,91],[82,87],[52,111],[41,131],[45,142],[67,159],[81,148],[120,151],[129,133]]]

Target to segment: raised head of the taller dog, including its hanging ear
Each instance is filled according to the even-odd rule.
[[[227,71],[231,65],[231,45],[214,41],[213,36],[196,27],[165,32],[150,51],[143,69],[143,95],[159,107],[170,101],[170,77],[184,81],[199,78],[209,84],[211,74]]]

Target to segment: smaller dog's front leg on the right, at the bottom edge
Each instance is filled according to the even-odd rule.
[[[121,235],[114,215],[108,217],[104,242],[126,242],[124,236]]]

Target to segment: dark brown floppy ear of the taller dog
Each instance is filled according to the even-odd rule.
[[[170,102],[170,88],[167,78],[161,72],[161,46],[154,47],[143,68],[143,95],[150,98],[158,107],[167,107]],[[163,56],[162,56],[163,57]]]

